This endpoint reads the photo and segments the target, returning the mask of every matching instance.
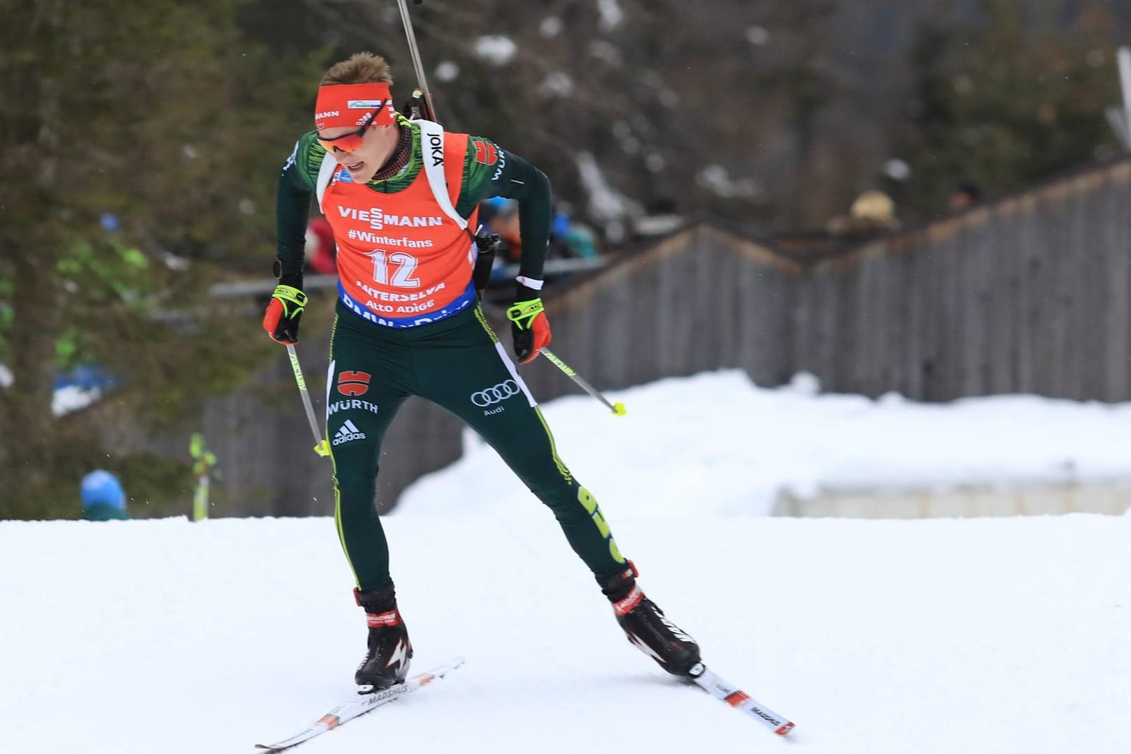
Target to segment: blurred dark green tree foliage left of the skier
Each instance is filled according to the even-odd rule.
[[[299,128],[286,98],[312,72],[245,43],[240,5],[0,0],[0,518],[70,502],[81,466],[106,465],[53,415],[57,367],[102,365],[140,422],[261,355],[247,320],[199,302],[214,262],[268,269],[274,187],[245,176],[278,170],[264,145]]]

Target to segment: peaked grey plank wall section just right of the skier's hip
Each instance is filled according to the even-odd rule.
[[[698,226],[547,301],[553,350],[602,390],[723,367],[777,384],[792,374],[791,279],[801,271]],[[523,376],[539,400],[579,390],[545,359]]]

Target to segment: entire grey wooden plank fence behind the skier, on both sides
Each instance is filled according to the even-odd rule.
[[[815,263],[696,225],[560,286],[546,309],[555,353],[602,389],[742,367],[762,385],[809,371],[826,390],[922,400],[1128,400],[1129,240],[1122,161]],[[311,309],[327,319],[331,306],[325,296]],[[328,327],[317,317],[304,319],[301,355],[321,411]],[[578,392],[545,359],[521,372],[539,400]],[[282,352],[254,387],[210,401],[202,422],[225,473],[217,510],[333,510],[330,463],[311,451]],[[405,404],[380,459],[379,510],[459,457],[460,427],[418,399]]]

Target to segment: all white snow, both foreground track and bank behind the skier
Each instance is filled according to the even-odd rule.
[[[553,518],[470,447],[385,519],[414,669],[449,678],[300,752],[1115,754],[1131,515],[775,519],[776,485],[1119,478],[1126,406],[923,407],[724,372],[546,407],[645,590],[792,743],[620,634]],[[252,752],[352,692],[330,519],[0,522],[0,751]]]

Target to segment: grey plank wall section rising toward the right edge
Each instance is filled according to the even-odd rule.
[[[869,396],[1128,400],[1129,255],[1121,162],[814,266],[791,367]]]

